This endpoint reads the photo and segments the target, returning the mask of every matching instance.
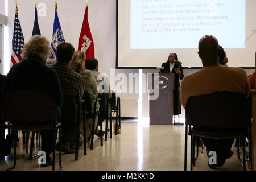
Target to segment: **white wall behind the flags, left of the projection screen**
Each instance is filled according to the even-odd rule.
[[[1,0],[3,1],[3,0]],[[55,1],[38,0],[38,22],[41,34],[48,40],[52,38],[53,20],[55,15]],[[44,7],[39,7],[45,5]],[[44,4],[42,4],[44,3]],[[78,39],[82,27],[82,20],[86,7],[85,0],[57,1],[58,14],[66,42],[78,46]],[[95,56],[100,63],[100,71],[110,74],[110,68],[115,68],[115,0],[89,0],[89,24],[92,31]],[[35,1],[18,1],[19,20],[22,26],[24,41],[27,42],[32,35],[34,24]],[[45,9],[45,15],[43,10]],[[9,1],[9,44],[13,36],[13,23],[15,16],[15,1]],[[101,66],[104,65],[104,66]]]

